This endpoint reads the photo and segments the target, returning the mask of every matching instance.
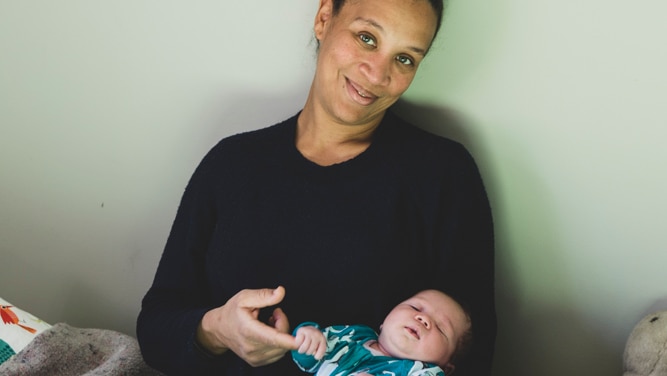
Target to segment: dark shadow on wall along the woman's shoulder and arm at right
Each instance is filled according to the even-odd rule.
[[[577,286],[567,277],[550,187],[527,153],[512,139],[495,139],[503,147],[490,147],[475,132],[480,127],[452,109],[402,100],[395,110],[427,131],[462,143],[479,165],[496,230],[493,374],[620,374],[617,349],[577,310]],[[499,133],[494,137],[502,137]]]

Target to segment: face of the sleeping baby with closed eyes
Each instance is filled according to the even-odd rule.
[[[428,290],[389,312],[378,342],[393,357],[444,366],[469,327],[470,322],[456,301]]]

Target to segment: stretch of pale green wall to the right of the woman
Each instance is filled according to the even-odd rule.
[[[502,375],[618,375],[667,298],[667,3],[451,1],[411,96],[456,109],[498,232]]]

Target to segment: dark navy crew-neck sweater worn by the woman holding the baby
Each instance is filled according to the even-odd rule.
[[[293,324],[378,328],[436,288],[471,311],[473,362],[457,374],[490,375],[493,223],[469,153],[387,112],[366,151],[323,167],[296,149],[296,119],[223,139],[194,172],[142,302],[146,361],[170,375],[299,374],[289,356],[258,368],[207,357],[199,321],[242,289],[282,285]]]

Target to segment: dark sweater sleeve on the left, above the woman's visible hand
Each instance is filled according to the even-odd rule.
[[[213,162],[209,153],[185,189],[137,320],[137,338],[144,359],[169,374],[206,374],[227,358],[227,354],[207,355],[195,343],[200,320],[213,308],[208,302],[204,266],[216,225]]]

